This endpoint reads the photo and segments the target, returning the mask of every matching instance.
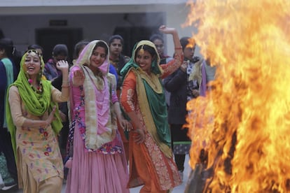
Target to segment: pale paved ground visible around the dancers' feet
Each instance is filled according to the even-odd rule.
[[[188,165],[188,155],[186,155],[186,161],[185,161],[184,165],[185,165],[184,182],[181,185],[175,187],[174,190],[172,191],[172,193],[181,193],[181,192],[184,192],[184,190],[185,190],[186,182],[187,182],[189,171],[190,171],[190,167]],[[140,191],[140,189],[141,189],[141,187],[131,188],[130,193],[138,193]],[[64,192],[65,192],[65,185],[63,185],[63,187],[62,187],[62,193],[64,193]],[[0,193],[22,193],[22,190],[18,190],[16,188],[13,188],[11,190],[6,190],[6,191],[0,190]]]

